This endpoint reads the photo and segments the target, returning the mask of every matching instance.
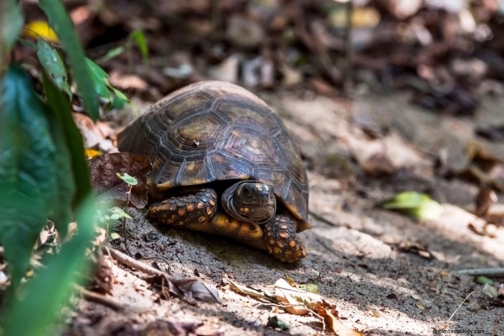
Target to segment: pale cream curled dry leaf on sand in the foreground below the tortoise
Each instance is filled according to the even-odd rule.
[[[285,310],[291,314],[304,315],[310,311],[335,309],[336,306],[318,294],[308,293],[290,286],[284,279],[275,283],[277,300],[289,304]]]

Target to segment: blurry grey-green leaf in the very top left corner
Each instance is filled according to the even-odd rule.
[[[4,58],[11,51],[22,26],[23,15],[19,9],[19,2],[16,0],[0,1],[0,71],[5,64]]]

